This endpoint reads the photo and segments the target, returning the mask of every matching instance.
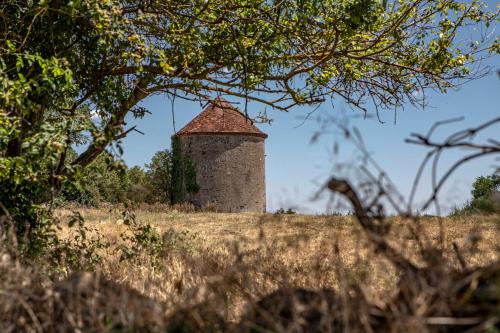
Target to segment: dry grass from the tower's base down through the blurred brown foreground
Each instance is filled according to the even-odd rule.
[[[498,215],[390,218],[387,247],[414,268],[384,256],[354,216],[55,215],[56,264],[17,260],[0,242],[1,332],[495,332],[500,322]]]

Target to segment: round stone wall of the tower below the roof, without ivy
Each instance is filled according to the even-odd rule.
[[[227,212],[265,212],[264,139],[248,134],[180,136],[181,152],[194,163],[200,186],[195,206],[213,203]]]

